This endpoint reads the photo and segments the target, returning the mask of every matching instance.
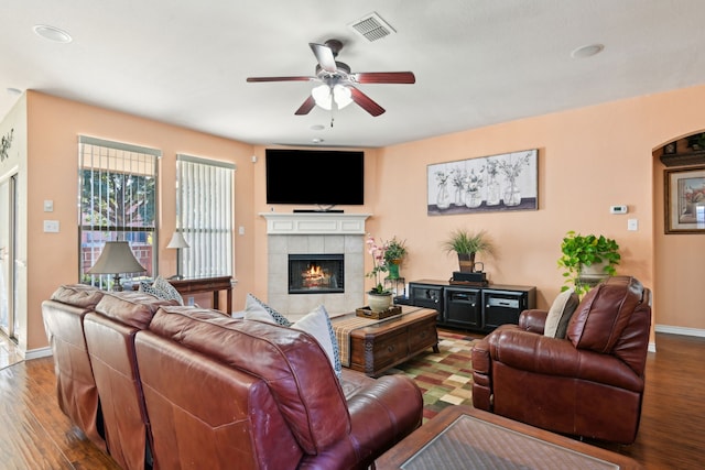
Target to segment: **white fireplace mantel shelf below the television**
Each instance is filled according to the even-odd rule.
[[[370,214],[260,212],[267,234],[365,234]]]

